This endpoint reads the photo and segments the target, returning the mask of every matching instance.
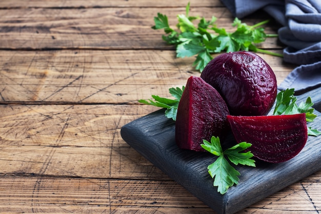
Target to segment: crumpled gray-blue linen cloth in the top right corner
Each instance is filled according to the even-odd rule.
[[[287,47],[284,61],[297,67],[278,89],[296,94],[321,86],[321,0],[220,0],[238,18],[262,9],[282,28],[279,40]]]

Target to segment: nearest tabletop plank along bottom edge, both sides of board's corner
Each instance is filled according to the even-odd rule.
[[[237,214],[317,213],[320,176],[317,172]],[[173,181],[2,176],[0,190],[2,212],[213,213]]]

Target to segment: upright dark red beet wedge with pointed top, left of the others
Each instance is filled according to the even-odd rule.
[[[179,148],[205,151],[200,144],[212,136],[224,139],[229,110],[222,96],[202,78],[191,76],[179,101],[175,138]]]

